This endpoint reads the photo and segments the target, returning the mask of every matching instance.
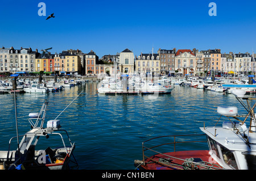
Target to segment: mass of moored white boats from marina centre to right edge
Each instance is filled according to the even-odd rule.
[[[256,92],[254,75],[232,78],[166,77],[160,78],[120,76],[105,77],[98,84],[99,94],[170,94],[175,85],[195,87],[215,92],[231,93],[232,90]]]

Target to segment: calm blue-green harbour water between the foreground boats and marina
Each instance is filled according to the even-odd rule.
[[[235,105],[242,110],[233,95],[179,85],[171,95],[157,99],[98,95],[96,89],[97,83],[86,83],[51,94],[16,95],[19,134],[30,129],[28,113],[39,112],[44,100],[49,102],[47,121],[55,119],[84,91],[58,117],[71,141],[76,142],[79,169],[126,170],[135,169],[134,159],[142,159],[142,142],[148,138],[201,133],[199,127],[204,122],[207,126],[218,120],[217,106]],[[10,138],[16,136],[14,95],[0,95],[0,99],[0,150],[7,150]]]

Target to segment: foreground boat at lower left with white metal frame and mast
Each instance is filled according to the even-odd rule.
[[[27,133],[12,137],[9,141],[9,149],[0,151],[0,169],[2,170],[62,170],[70,169],[69,162],[75,163],[76,159],[73,155],[75,142],[72,143],[68,132],[61,129],[60,120],[49,120],[47,125],[44,125],[48,102],[44,102],[40,112],[31,112],[28,122],[31,124],[31,130]],[[65,135],[61,134],[65,133]],[[23,137],[19,142],[19,137]],[[43,137],[43,138],[41,138]],[[53,139],[51,139],[51,137]],[[59,143],[62,145],[59,148],[50,148],[46,144],[49,140],[56,140],[59,137]],[[39,139],[41,138],[41,139]],[[64,138],[68,143],[64,142]],[[18,141],[18,148],[10,150],[12,141]],[[42,140],[40,144],[40,140]],[[66,141],[67,142],[67,141]],[[47,146],[46,146],[47,145]],[[54,142],[53,145],[56,145]],[[69,145],[69,146],[68,146]],[[17,145],[16,145],[17,146]],[[36,148],[43,148],[38,149]],[[75,161],[73,161],[73,158]]]

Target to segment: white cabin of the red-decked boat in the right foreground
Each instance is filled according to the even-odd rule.
[[[247,115],[239,115],[236,107],[218,107],[217,112],[221,116],[228,117],[228,121],[223,121],[222,127],[200,129],[207,135],[209,153],[213,161],[218,162],[225,169],[254,170],[256,169],[256,119],[253,108],[256,103],[254,106],[249,106],[249,103],[256,99],[243,98],[243,95],[240,97],[240,92],[236,94],[237,99],[243,106],[246,104],[242,100],[246,100]],[[245,123],[247,118],[250,119],[248,125]]]

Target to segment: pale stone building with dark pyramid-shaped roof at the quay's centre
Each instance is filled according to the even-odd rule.
[[[134,54],[128,48],[120,53],[119,70],[121,73],[134,73]]]

